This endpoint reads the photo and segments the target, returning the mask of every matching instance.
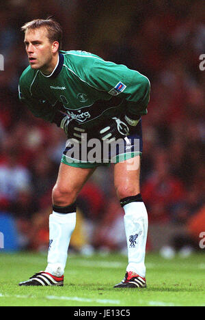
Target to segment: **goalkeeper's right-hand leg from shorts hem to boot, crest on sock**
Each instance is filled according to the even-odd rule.
[[[126,278],[115,287],[146,286],[148,214],[141,198],[139,178],[140,156],[115,164],[115,189],[125,213],[124,226],[128,246]]]

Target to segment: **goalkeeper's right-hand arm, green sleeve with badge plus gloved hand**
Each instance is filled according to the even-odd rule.
[[[148,113],[150,101],[150,81],[141,73],[128,69],[124,65],[96,60],[90,75],[92,85],[111,96],[122,98],[124,113],[120,118],[111,118],[106,126],[99,130],[99,137],[109,142],[135,132],[142,115]]]

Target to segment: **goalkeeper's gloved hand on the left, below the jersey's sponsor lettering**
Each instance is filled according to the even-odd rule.
[[[76,122],[70,118],[70,116],[65,116],[61,120],[61,129],[63,129],[68,138],[73,139],[81,144],[82,134],[85,133],[85,129],[77,126]]]

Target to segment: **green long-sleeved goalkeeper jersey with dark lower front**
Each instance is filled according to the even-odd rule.
[[[28,66],[20,77],[19,98],[34,116],[49,122],[59,112],[84,129],[105,118],[147,114],[150,81],[122,64],[85,51],[60,51],[51,75]]]

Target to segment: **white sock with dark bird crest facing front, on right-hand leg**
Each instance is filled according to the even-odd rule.
[[[128,266],[142,278],[146,276],[145,255],[148,236],[148,213],[143,202],[124,205],[124,226],[128,247]]]

